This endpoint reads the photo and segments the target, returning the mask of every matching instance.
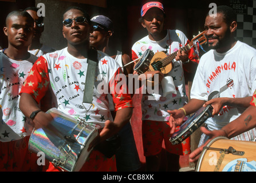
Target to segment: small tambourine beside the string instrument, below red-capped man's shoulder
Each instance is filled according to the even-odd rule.
[[[153,51],[152,50],[145,50],[142,57],[140,58],[140,61],[137,62],[134,69],[138,74],[143,74],[149,69],[149,64],[151,62],[151,59],[153,58]]]

